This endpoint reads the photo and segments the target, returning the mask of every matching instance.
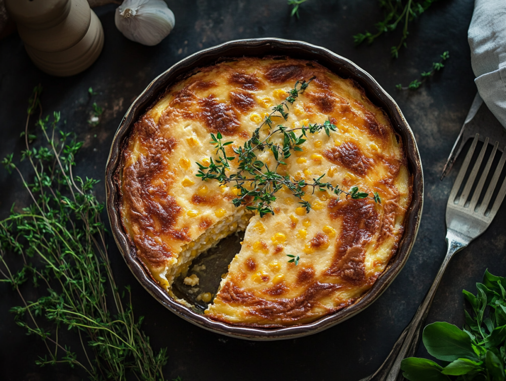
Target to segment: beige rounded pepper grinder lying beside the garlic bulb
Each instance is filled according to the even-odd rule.
[[[77,74],[102,51],[102,24],[86,0],[6,0],[6,8],[33,63],[48,74]]]

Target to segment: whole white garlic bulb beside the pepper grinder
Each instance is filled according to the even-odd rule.
[[[176,20],[163,0],[124,0],[114,23],[126,38],[153,46],[171,32]]]

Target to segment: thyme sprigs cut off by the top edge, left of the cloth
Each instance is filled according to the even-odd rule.
[[[360,45],[364,41],[367,41],[368,44],[372,44],[377,37],[385,32],[397,29],[397,26],[401,24],[403,27],[399,44],[390,48],[392,57],[398,58],[399,49],[406,47],[406,39],[409,34],[409,23],[427,11],[436,1],[437,0],[379,0],[379,7],[384,9],[383,21],[379,21],[374,25],[376,28],[376,33],[374,34],[368,31],[355,34],[353,36],[355,45]]]

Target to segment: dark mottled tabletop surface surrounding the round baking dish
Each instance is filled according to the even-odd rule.
[[[310,0],[301,7],[301,19],[289,17],[284,0],[250,2],[175,1],[176,28],[156,47],[144,47],[124,38],[114,26],[114,8],[96,9],[104,26],[105,46],[98,61],[70,78],[41,73],[28,59],[17,34],[0,41],[0,157],[22,149],[26,100],[33,86],[44,86],[44,111],[60,110],[66,129],[85,142],[77,160],[78,175],[103,179],[114,132],[124,112],[160,72],[202,48],[248,37],[304,40],[341,54],[367,70],[398,102],[416,136],[424,165],[425,208],[418,239],[406,267],[389,289],[367,310],[324,332],[281,342],[248,342],[228,338],[191,325],[164,309],[136,281],[109,239],[109,255],[120,286],[130,284],[138,314],[146,316],[144,329],[154,348],[168,347],[168,379],[358,380],[381,364],[397,336],[423,299],[446,252],[445,206],[456,173],[439,181],[445,160],[476,93],[471,69],[467,28],[472,0],[440,1],[410,28],[408,48],[399,59],[390,47],[399,34],[379,38],[373,45],[353,46],[352,35],[372,30],[381,18],[375,1]],[[450,51],[442,72],[416,92],[398,92],[395,84],[409,83]],[[104,107],[102,122],[91,127],[87,89]],[[104,189],[97,188],[99,200]],[[21,182],[0,170],[0,216],[13,202],[28,201]],[[492,226],[450,263],[431,309],[428,322],[463,322],[462,288],[475,291],[489,268],[506,274],[503,258],[506,218],[502,205]],[[104,219],[107,220],[105,214]],[[10,287],[0,284],[0,379],[67,380],[86,378],[68,367],[39,368],[34,364],[45,348],[26,336],[8,312],[19,304]],[[72,343],[74,348],[77,343]],[[419,349],[419,355],[426,355]]]

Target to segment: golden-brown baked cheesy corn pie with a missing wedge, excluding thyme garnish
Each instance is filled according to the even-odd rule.
[[[233,185],[195,177],[196,161],[215,157],[210,133],[242,146],[295,82],[313,75],[283,124],[330,120],[338,131],[308,134],[304,151],[285,159],[279,171],[307,181],[326,174],[322,181],[344,189],[378,192],[381,204],[308,189],[312,210],[300,215],[299,200],[283,190],[272,204],[275,214],[260,218],[232,204]],[[353,304],[396,252],[411,201],[402,142],[389,118],[353,80],[312,61],[238,58],[201,68],[168,88],[135,123],[122,155],[124,228],[168,292],[198,255],[192,244],[216,243],[237,230],[235,217],[243,214],[242,248],[205,311],[234,324],[307,323]],[[259,158],[274,162],[270,151]],[[299,265],[287,255],[299,256]]]

